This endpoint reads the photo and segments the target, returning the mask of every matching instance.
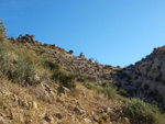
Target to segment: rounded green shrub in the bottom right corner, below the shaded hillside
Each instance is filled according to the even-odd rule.
[[[164,120],[162,112],[156,104],[148,104],[140,99],[131,99],[127,103],[125,115],[132,121],[142,121],[146,124],[157,124]]]

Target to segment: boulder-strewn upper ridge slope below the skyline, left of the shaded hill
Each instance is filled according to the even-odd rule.
[[[12,40],[14,44],[23,43],[38,55],[46,55],[53,61],[55,60],[66,71],[84,76],[96,83],[106,81],[112,82],[112,75],[119,69],[109,65],[103,66],[91,59],[87,59],[82,53],[80,53],[79,56],[74,56],[64,48],[55,45],[42,44],[35,41],[33,35],[20,35],[18,38],[10,40]]]

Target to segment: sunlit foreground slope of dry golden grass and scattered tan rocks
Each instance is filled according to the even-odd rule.
[[[105,99],[81,84],[73,93],[46,82],[23,88],[0,80],[0,124],[130,123],[121,116],[121,103]]]

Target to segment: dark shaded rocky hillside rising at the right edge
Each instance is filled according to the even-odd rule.
[[[123,68],[117,78],[129,95],[157,101],[165,106],[165,46],[154,48],[146,58]]]

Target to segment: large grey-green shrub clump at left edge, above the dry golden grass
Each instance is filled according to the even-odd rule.
[[[12,81],[32,84],[32,82],[34,82],[35,68],[22,58],[19,58],[16,64],[13,64],[10,58],[11,57],[6,53],[1,53],[0,69],[2,75]],[[11,65],[14,66],[14,68],[12,68]]]

